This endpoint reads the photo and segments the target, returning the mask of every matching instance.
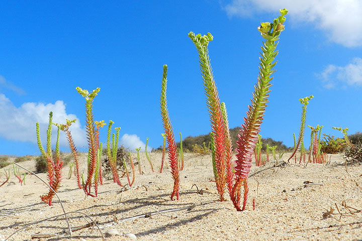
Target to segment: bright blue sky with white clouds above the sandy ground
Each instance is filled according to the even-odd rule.
[[[341,137],[333,126],[362,131],[362,3],[319,1],[87,1],[6,2],[0,15],[0,154],[38,155],[49,111],[54,122],[77,118],[72,133],[86,147],[84,98],[75,90],[101,88],[96,120],[121,127],[134,149],[162,145],[159,110],[162,65],[179,140],[210,132],[198,54],[188,33],[207,34],[211,64],[231,128],[241,126],[258,74],[260,22],[289,9],[281,34],[272,92],[261,135],[293,145],[299,98],[313,94],[307,125]],[[55,139],[55,129],[53,138]],[[309,130],[306,134],[308,143]],[[101,132],[106,141],[106,128]],[[64,136],[62,149],[67,151]]]

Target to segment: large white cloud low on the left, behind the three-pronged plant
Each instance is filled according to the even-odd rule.
[[[77,119],[74,114],[65,112],[65,104],[61,100],[54,104],[27,102],[16,107],[9,98],[0,93],[0,136],[12,141],[36,143],[35,124],[39,122],[41,139],[45,146],[50,111],[53,111],[53,123],[65,124],[65,119]],[[72,124],[70,131],[77,147],[86,145],[85,132],[78,120]],[[56,135],[56,127],[53,127],[53,145]],[[59,142],[63,147],[68,145],[63,132]]]

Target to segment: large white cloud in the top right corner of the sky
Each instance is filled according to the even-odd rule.
[[[346,47],[362,46],[362,1],[360,0],[232,0],[224,7],[231,16],[279,13],[288,9],[297,24],[309,22],[325,31],[331,42]]]

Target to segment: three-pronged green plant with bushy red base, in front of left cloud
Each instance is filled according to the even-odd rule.
[[[59,152],[59,134],[60,134],[60,127],[58,126],[57,132],[57,140],[55,144],[55,158],[53,158],[52,150],[51,150],[51,135],[52,135],[52,120],[53,120],[53,112],[49,113],[49,125],[47,130],[47,146],[46,151],[43,148],[40,139],[40,128],[39,123],[36,123],[36,133],[37,133],[37,141],[38,147],[43,155],[43,157],[47,160],[47,176],[49,186],[53,188],[54,191],[58,191],[61,181],[61,169],[63,168],[63,162],[60,160],[60,152]],[[48,203],[49,206],[52,205],[52,199],[55,195],[54,191],[49,188],[49,192],[46,195],[40,196],[42,202]]]

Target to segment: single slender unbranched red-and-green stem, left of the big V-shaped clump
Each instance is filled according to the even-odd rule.
[[[173,200],[174,196],[176,196],[176,199],[178,200],[179,198],[178,153],[177,153],[177,146],[174,139],[171,121],[168,115],[166,89],[167,89],[167,65],[163,65],[161,98],[160,98],[161,115],[162,115],[163,129],[165,131],[166,140],[167,140],[168,159],[171,167],[171,175],[173,178],[173,191],[171,193],[171,200]]]

